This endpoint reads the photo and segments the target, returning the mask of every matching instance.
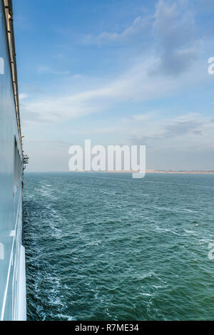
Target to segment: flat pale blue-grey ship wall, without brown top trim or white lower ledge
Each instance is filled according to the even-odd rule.
[[[21,252],[22,153],[0,0],[0,319],[14,319]]]

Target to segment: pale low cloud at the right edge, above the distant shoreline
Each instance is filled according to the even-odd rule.
[[[195,145],[211,145],[213,143],[214,125],[211,118],[204,117],[200,113],[188,113],[176,118],[164,118],[147,122],[136,130],[136,136],[130,137],[132,144],[146,144],[165,148],[182,148],[190,150]],[[143,134],[143,135],[142,135]]]

